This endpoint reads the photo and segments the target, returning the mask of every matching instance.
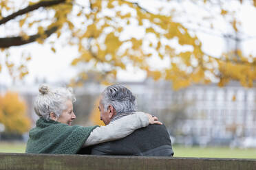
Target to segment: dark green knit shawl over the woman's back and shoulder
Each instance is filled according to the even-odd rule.
[[[30,130],[26,153],[76,154],[89,134],[98,126],[69,126],[57,121],[40,118]]]

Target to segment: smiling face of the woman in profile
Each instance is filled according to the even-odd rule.
[[[73,104],[72,101],[67,100],[66,102],[66,110],[63,110],[61,116],[58,117],[57,121],[61,123],[65,123],[67,125],[71,125],[72,121],[76,119],[76,115],[73,112]]]

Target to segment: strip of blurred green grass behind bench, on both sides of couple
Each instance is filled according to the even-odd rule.
[[[194,158],[254,158],[256,149],[231,149],[229,147],[173,146],[175,157]],[[24,153],[25,143],[0,143],[0,153]]]

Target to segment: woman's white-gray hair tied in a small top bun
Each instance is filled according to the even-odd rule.
[[[46,85],[39,86],[40,94],[34,101],[34,111],[39,117],[50,119],[50,112],[56,117],[61,116],[63,110],[67,109],[67,100],[76,101],[72,88],[49,88]]]

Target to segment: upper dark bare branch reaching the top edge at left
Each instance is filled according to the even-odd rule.
[[[64,3],[64,2],[65,2],[65,0],[40,1],[39,3],[36,3],[34,5],[29,5],[28,7],[23,8],[22,10],[19,10],[17,12],[14,12],[14,13],[10,14],[9,16],[4,17],[3,19],[0,20],[0,25],[14,19],[17,16],[26,14],[26,13],[31,12],[33,10],[37,10],[40,7],[47,7],[47,6],[57,5],[59,3]]]

